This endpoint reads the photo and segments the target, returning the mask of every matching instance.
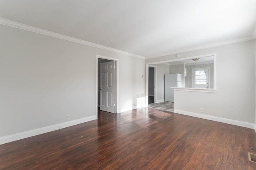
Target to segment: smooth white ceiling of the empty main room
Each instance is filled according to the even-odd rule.
[[[256,36],[256,0],[0,0],[0,17],[146,58]]]

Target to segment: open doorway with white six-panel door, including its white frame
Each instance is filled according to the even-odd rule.
[[[118,59],[97,55],[96,60],[97,110],[118,112]]]

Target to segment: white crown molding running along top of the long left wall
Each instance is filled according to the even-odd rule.
[[[26,30],[26,31],[31,31],[31,32],[34,32],[34,33],[48,35],[50,37],[55,37],[55,38],[64,39],[64,40],[67,40],[67,41],[72,41],[74,43],[80,43],[80,44],[83,44],[83,45],[88,45],[88,46],[91,46],[91,47],[96,47],[96,48],[100,48],[100,49],[104,49],[104,50],[108,50],[108,51],[128,55],[128,56],[131,56],[131,57],[137,57],[137,58],[140,58],[140,59],[145,59],[145,57],[140,56],[140,55],[128,53],[128,52],[121,51],[121,50],[118,50],[118,49],[113,49],[113,48],[110,48],[110,47],[106,47],[106,46],[99,45],[99,44],[96,44],[96,43],[91,43],[89,41],[84,41],[82,39],[69,37],[69,36],[66,36],[66,35],[59,34],[59,33],[46,31],[44,29],[40,29],[40,28],[37,28],[37,27],[32,27],[32,26],[25,25],[25,24],[18,23],[18,22],[14,22],[14,21],[11,21],[11,20],[6,20],[6,19],[3,19],[1,17],[0,17],[0,24],[7,25],[7,26],[10,26],[10,27],[15,27],[15,28],[18,28],[18,29],[23,29],[23,30]]]

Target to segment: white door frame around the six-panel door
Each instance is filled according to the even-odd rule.
[[[118,89],[119,89],[119,79],[118,79],[118,75],[119,75],[119,62],[118,59],[115,58],[111,58],[111,57],[106,57],[106,56],[102,56],[102,55],[96,55],[96,115],[98,114],[98,58],[101,59],[107,59],[107,60],[111,60],[111,61],[116,61],[116,70],[115,70],[115,111],[114,113],[119,113],[119,107],[118,107],[118,98],[119,98],[119,93],[118,93]]]

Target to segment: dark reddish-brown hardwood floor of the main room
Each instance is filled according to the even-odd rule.
[[[0,169],[256,170],[253,129],[140,108],[0,145]]]

